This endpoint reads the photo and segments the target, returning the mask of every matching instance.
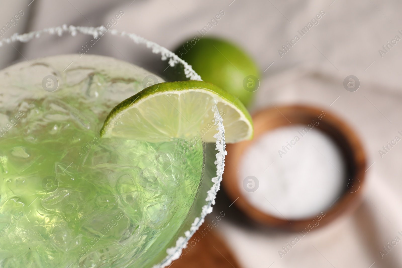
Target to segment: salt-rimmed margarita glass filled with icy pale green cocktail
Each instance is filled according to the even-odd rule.
[[[102,29],[64,25],[0,45],[46,34],[98,37]],[[182,63],[189,79],[201,80],[167,49],[112,34],[145,44],[171,65]],[[213,118],[204,122],[208,133],[196,141],[101,137],[112,108],[155,82],[164,79],[131,62],[79,53],[0,71],[2,267],[158,268],[180,256],[212,211],[224,127],[215,105],[206,112]],[[109,127],[128,116],[113,115]]]

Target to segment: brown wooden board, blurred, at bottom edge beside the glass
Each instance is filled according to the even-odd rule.
[[[211,225],[210,225],[211,226]],[[205,230],[205,231],[202,231]],[[170,268],[240,268],[224,241],[207,224],[189,240],[187,249]]]

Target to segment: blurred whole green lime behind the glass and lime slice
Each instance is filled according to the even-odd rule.
[[[176,55],[201,78],[223,88],[248,106],[259,87],[256,63],[240,47],[217,38],[195,38],[178,47]]]

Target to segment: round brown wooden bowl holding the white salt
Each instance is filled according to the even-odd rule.
[[[318,116],[325,113],[318,121]],[[280,227],[289,231],[301,231],[314,224],[313,220],[319,221],[318,226],[326,225],[345,213],[353,212],[361,202],[362,188],[365,180],[366,159],[363,146],[355,132],[343,121],[328,113],[324,109],[309,106],[282,106],[278,108],[267,108],[260,110],[252,116],[254,122],[254,140],[258,139],[267,131],[277,127],[291,124],[319,124],[314,128],[328,135],[339,147],[345,165],[345,188],[343,195],[330,206],[328,211],[324,211],[325,216],[303,220],[281,219],[269,215],[251,205],[240,191],[239,170],[240,159],[244,151],[254,142],[242,141],[235,144],[228,144],[226,150],[225,172],[223,185],[228,196],[241,211],[250,218],[268,225],[270,227]],[[313,120],[315,120],[313,122]],[[267,163],[269,164],[269,163]]]

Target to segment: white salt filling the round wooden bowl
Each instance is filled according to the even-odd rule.
[[[305,127],[269,131],[244,152],[238,183],[260,211],[281,219],[306,219],[330,209],[342,194],[345,167],[338,147],[318,129]],[[247,176],[258,179],[255,192],[244,190]]]

